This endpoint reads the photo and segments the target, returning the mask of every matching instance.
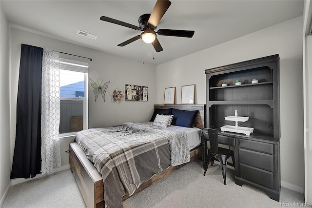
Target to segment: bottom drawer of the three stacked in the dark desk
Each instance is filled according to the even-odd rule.
[[[264,187],[274,188],[274,173],[256,167],[239,164],[240,178]]]

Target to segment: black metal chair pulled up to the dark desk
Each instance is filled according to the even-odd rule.
[[[224,185],[226,185],[226,165],[230,157],[232,157],[233,165],[235,167],[234,151],[230,149],[230,136],[226,132],[222,132],[229,138],[229,149],[218,146],[218,131],[213,128],[203,128],[202,135],[206,141],[209,141],[210,148],[207,153],[207,163],[205,167],[204,175],[206,175],[210,161],[211,166],[214,163],[214,159],[217,159],[221,164],[222,175],[224,179]]]

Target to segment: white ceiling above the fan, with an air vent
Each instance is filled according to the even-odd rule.
[[[195,34],[193,38],[158,35],[164,49],[158,53],[142,40],[117,46],[141,31],[99,20],[107,16],[138,26],[139,16],[151,13],[156,0],[0,0],[0,3],[13,25],[140,62],[144,57],[144,62],[155,65],[299,17],[303,15],[304,3],[303,0],[171,1],[157,29],[194,30]],[[77,35],[78,30],[97,35],[98,39]],[[75,54],[80,55],[78,51]]]

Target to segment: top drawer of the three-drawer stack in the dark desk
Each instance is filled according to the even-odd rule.
[[[264,142],[256,142],[251,140],[239,139],[238,147],[252,149],[259,152],[265,152],[273,155],[273,144],[264,143]]]

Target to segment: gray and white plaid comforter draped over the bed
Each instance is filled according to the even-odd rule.
[[[122,197],[156,173],[190,161],[185,132],[151,124],[124,123],[79,131],[76,142],[101,173],[105,207],[122,207]]]

